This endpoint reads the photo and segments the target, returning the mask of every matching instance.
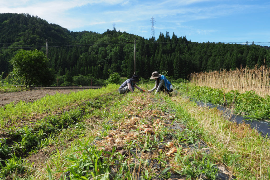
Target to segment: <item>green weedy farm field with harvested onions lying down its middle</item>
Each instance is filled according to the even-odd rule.
[[[11,103],[1,108],[0,178],[269,179],[269,139],[198,107],[185,86],[172,96],[111,85]]]

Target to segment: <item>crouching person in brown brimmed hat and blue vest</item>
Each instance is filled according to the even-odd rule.
[[[150,77],[150,79],[155,79],[156,85],[155,87],[153,87],[153,89],[148,90],[147,92],[151,93],[155,89],[157,89],[155,94],[158,93],[159,91],[164,91],[167,94],[173,92],[173,86],[171,85],[170,81],[167,80],[165,76],[158,74],[157,71],[152,73],[152,76]]]

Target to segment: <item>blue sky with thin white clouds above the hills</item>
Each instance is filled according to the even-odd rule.
[[[107,29],[149,39],[186,36],[193,42],[270,43],[269,0],[0,0],[0,13],[28,13],[70,31]],[[268,45],[269,46],[269,45]]]

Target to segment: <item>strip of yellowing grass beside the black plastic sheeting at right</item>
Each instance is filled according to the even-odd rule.
[[[181,96],[173,100],[176,101],[167,101],[177,113],[191,117],[185,121],[187,128],[202,129],[201,138],[213,148],[217,164],[224,164],[238,176],[237,179],[269,179],[269,138],[246,124],[237,125],[226,120],[216,108],[197,107],[196,103]]]

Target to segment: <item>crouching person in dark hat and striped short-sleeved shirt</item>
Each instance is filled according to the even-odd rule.
[[[136,85],[136,83],[139,81],[140,81],[139,76],[137,75],[132,76],[130,79],[127,79],[126,81],[123,82],[123,84],[121,84],[121,86],[118,89],[118,92],[120,94],[128,93],[129,91],[131,93],[134,93],[135,87],[140,91],[144,92],[145,90],[141,89]]]

